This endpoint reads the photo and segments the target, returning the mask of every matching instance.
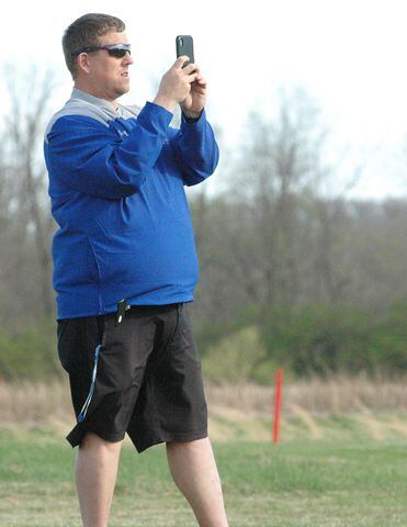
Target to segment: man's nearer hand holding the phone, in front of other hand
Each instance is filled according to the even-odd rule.
[[[173,112],[176,105],[183,101],[191,91],[191,83],[195,80],[196,69],[194,64],[189,64],[184,68],[182,65],[189,60],[189,57],[182,55],[179,57],[167,74],[162,77],[158,93],[154,102],[163,106],[169,112]]]

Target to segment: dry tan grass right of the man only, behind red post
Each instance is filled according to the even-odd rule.
[[[270,440],[273,392],[272,385],[208,385],[211,437]],[[284,440],[407,438],[407,379],[340,375],[285,383],[282,401]]]

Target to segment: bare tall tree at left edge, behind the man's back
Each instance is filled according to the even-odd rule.
[[[2,199],[13,211],[9,211],[9,217],[22,227],[21,242],[31,246],[36,256],[41,284],[37,310],[47,316],[54,312],[49,247],[55,222],[49,212],[42,152],[56,77],[50,69],[41,72],[36,67],[25,72],[11,66],[4,70],[11,110],[4,119],[7,168],[1,177],[3,182],[13,181],[13,184],[3,191]]]

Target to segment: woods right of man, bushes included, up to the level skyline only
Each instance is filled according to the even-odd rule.
[[[290,229],[265,228],[256,200],[193,203],[206,226],[195,310],[207,374],[405,374],[407,200],[285,203]],[[278,218],[278,201],[269,205]]]

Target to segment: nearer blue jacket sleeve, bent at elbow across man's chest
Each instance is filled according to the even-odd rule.
[[[65,115],[46,137],[48,172],[68,188],[103,199],[134,194],[148,178],[172,113],[147,102],[125,139],[99,121]]]

